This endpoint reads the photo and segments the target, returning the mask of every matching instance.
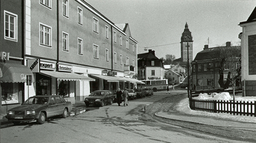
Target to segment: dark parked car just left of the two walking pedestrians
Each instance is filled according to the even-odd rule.
[[[108,90],[97,90],[93,91],[88,97],[84,98],[84,103],[86,107],[89,105],[100,105],[103,107],[106,104],[112,104],[115,100],[115,95],[112,91]]]

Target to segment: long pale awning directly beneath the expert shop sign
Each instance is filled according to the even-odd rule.
[[[95,79],[86,77],[84,75],[78,75],[77,73],[52,72],[52,71],[43,71],[43,70],[41,70],[40,73],[47,75],[49,77],[55,77],[58,80],[95,81]]]

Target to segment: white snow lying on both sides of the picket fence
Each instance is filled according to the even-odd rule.
[[[233,100],[233,95],[230,96],[229,93],[213,93],[213,94],[199,94],[198,97],[193,97],[193,99],[202,99],[202,100]],[[256,102],[256,96],[246,96],[242,97],[241,94],[235,95],[236,101],[246,101],[246,102]],[[227,113],[212,113],[212,112],[204,112],[204,111],[197,111],[191,110],[189,108],[189,98],[185,98],[182,100],[179,105],[177,105],[177,110],[180,112],[184,112],[186,114],[193,114],[198,116],[207,116],[207,117],[217,117],[220,119],[230,119],[234,121],[244,121],[250,123],[256,123],[256,117],[254,116],[240,116],[240,115],[232,115]]]

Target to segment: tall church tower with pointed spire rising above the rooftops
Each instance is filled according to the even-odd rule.
[[[188,62],[188,52],[189,52],[189,63],[193,61],[193,37],[188,29],[188,24],[186,22],[184,32],[181,36],[180,41],[180,52],[181,61]]]

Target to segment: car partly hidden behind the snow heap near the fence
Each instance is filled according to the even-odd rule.
[[[193,93],[220,93],[224,91],[222,87],[214,87],[214,86],[196,86],[195,89],[191,90],[191,94]]]

